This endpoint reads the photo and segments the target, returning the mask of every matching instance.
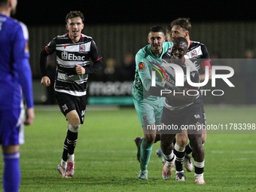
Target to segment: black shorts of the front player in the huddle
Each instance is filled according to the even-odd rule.
[[[163,107],[161,119],[162,130],[160,130],[161,134],[182,133],[182,129],[192,130],[194,128],[197,130],[196,127],[192,127],[190,125],[197,122],[203,124],[203,115],[201,106],[198,104],[192,104],[183,109],[173,111]],[[203,129],[203,126],[200,127],[200,129]]]

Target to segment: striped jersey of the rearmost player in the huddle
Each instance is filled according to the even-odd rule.
[[[190,46],[187,49],[187,57],[197,67],[197,70],[200,75],[205,74],[204,66],[202,66],[203,62],[210,61],[211,59],[210,59],[208,50],[204,44],[201,44],[198,41],[190,41]]]

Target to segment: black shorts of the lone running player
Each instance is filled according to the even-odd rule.
[[[84,123],[84,114],[86,108],[86,96],[72,96],[66,93],[55,92],[56,100],[60,111],[66,117],[70,111],[77,111],[81,124]]]

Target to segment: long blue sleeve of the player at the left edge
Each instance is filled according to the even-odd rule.
[[[14,67],[19,75],[19,83],[26,99],[27,108],[33,108],[32,72],[29,66],[29,34],[26,26],[20,23],[14,40]]]

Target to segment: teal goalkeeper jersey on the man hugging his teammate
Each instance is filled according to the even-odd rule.
[[[143,47],[136,54],[136,75],[133,81],[133,97],[137,100],[148,99],[155,101],[157,96],[150,96],[148,93],[151,87],[152,71],[156,74],[156,84],[161,85],[163,79],[162,56],[172,47],[172,42],[163,42],[163,51],[160,56],[154,56],[151,45]]]

